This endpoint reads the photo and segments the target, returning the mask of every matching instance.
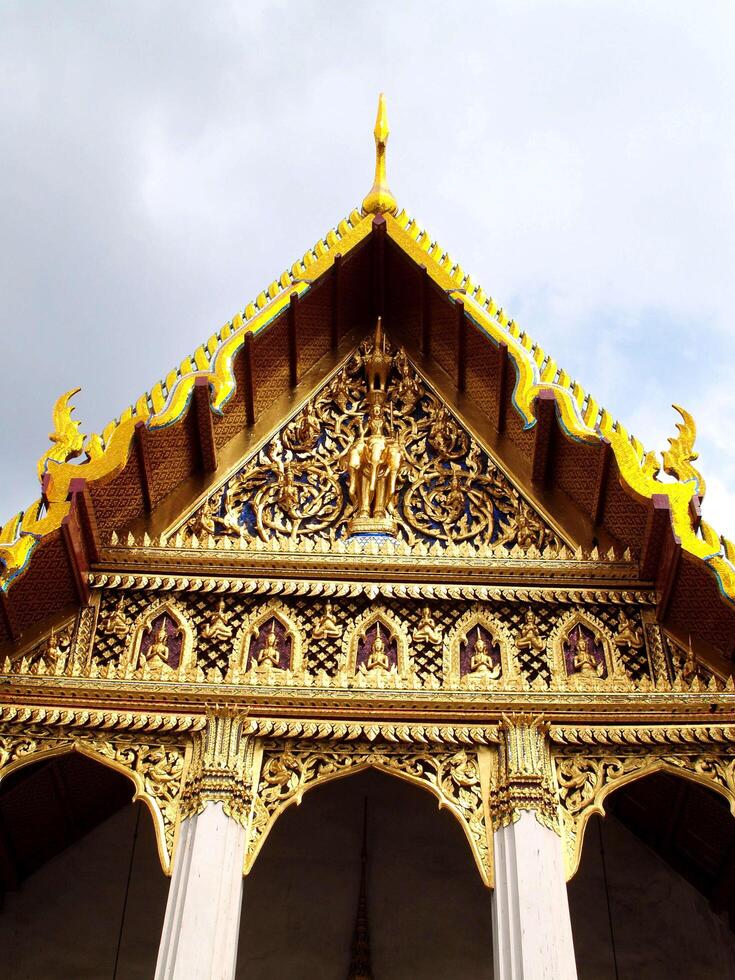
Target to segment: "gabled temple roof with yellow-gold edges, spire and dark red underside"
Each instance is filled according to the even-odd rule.
[[[691,416],[678,409],[678,434],[662,459],[647,453],[398,208],[386,180],[387,139],[381,96],[375,181],[362,208],[101,434],[79,432],[74,392],[58,400],[52,446],[39,460],[41,497],[0,530],[0,639],[17,640],[83,600],[105,535],[155,511],[193,474],[215,472],[218,453],[227,455],[243,429],[382,313],[427,374],[444,379],[458,411],[482,417],[496,455],[534,493],[556,491],[579,511],[570,525],[577,545],[629,548],[642,579],[657,586],[662,619],[679,633],[701,632],[705,603],[716,622],[703,642],[732,655],[735,546],[701,519]],[[670,479],[660,478],[661,466]]]

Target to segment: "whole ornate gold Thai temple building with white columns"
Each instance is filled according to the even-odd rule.
[[[9,980],[735,980],[735,546],[386,177],[0,529]],[[296,804],[296,805],[294,805]]]

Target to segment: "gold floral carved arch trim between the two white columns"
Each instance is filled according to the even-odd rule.
[[[250,822],[249,872],[278,817],[322,783],[374,768],[423,786],[459,820],[485,884],[492,883],[491,848],[477,753],[461,747],[422,751],[406,746],[344,742],[266,742]]]

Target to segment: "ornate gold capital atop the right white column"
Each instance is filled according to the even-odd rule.
[[[490,791],[495,830],[515,823],[528,810],[545,827],[559,833],[548,730],[541,716],[503,715],[498,726],[497,772]]]

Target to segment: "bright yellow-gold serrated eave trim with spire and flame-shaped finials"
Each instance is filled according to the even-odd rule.
[[[7,591],[25,570],[38,541],[57,530],[69,513],[68,501],[72,479],[82,477],[88,484],[114,478],[125,466],[130,453],[135,425],[144,422],[151,429],[174,425],[184,416],[197,378],[210,385],[210,407],[222,414],[232,397],[236,382],[233,362],[248,334],[264,329],[289,303],[292,293],[300,297],[314,282],[332,268],[337,254],[346,256],[371,233],[375,216],[386,222],[389,238],[415,263],[426,267],[431,279],[452,302],[464,303],[466,314],[496,346],[503,343],[516,367],[513,406],[526,428],[536,423],[534,402],[541,391],[553,391],[557,415],[566,434],[585,443],[608,441],[620,474],[632,495],[644,502],[654,495],[664,495],[671,508],[674,534],[682,548],[706,562],[718,580],[720,591],[735,602],[735,545],[718,536],[705,521],[697,530],[692,518],[693,498],[700,501],[705,484],[693,462],[696,426],[692,416],[677,407],[682,421],[678,435],[669,440],[663,453],[663,468],[671,481],[658,479],[660,464],[655,453],[646,453],[642,444],[630,436],[620,422],[573,381],[554,359],[521,330],[515,320],[477,285],[462,266],[411,218],[397,210],[385,177],[385,145],[388,124],[385,102],[381,96],[375,125],[375,183],[363,201],[362,211],[354,210],[348,218],[329,231],[325,238],[309,249],[258,297],[237,313],[206,344],[185,358],[152,391],[143,394],[134,406],[101,435],[84,439],[78,423],[71,420],[71,394],[62,396],[54,411],[53,446],[39,461],[44,483],[44,500],[37,500],[28,510],[11,518],[0,530],[0,588]],[[74,464],[69,459],[81,453],[86,459]]]

